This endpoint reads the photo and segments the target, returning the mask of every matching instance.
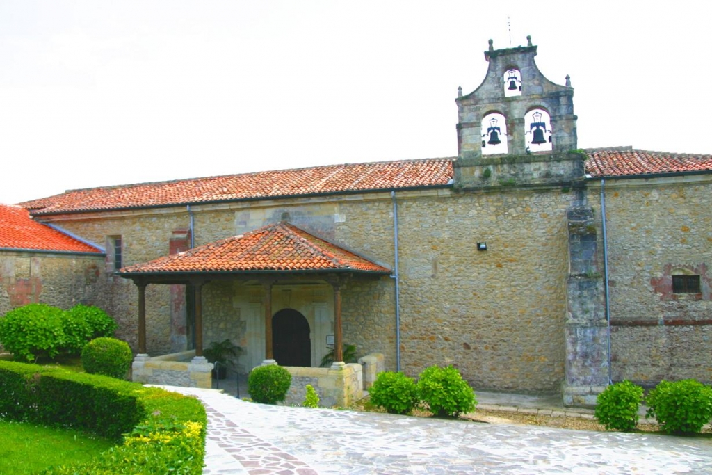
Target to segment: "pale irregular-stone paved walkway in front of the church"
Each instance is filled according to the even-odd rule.
[[[712,474],[711,439],[269,406],[166,389],[206,407],[204,474]],[[481,404],[510,410],[508,402],[543,404],[520,398],[499,404],[478,393]]]

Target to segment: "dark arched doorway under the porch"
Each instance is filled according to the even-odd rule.
[[[285,308],[272,317],[272,353],[281,366],[311,366],[309,323],[297,310]]]

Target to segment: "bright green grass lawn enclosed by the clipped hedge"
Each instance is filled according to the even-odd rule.
[[[0,474],[32,474],[51,465],[88,461],[115,443],[71,429],[0,420]]]

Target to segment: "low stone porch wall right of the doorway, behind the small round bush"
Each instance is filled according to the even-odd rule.
[[[286,366],[292,375],[285,404],[301,405],[306,385],[312,385],[319,395],[320,407],[347,407],[363,397],[361,365],[333,365],[332,367]]]

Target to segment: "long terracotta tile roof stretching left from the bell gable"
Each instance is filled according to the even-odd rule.
[[[442,158],[326,165],[172,182],[75,189],[21,204],[31,209],[32,214],[49,214],[429,187],[449,182],[453,177],[453,160]]]

